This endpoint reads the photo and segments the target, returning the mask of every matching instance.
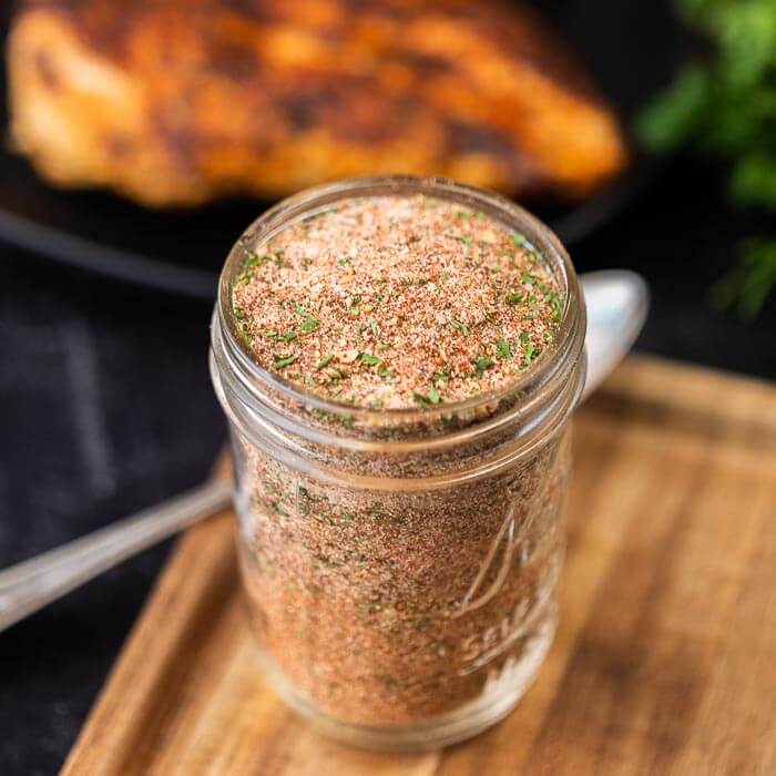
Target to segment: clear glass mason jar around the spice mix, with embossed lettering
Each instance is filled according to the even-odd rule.
[[[350,197],[426,194],[522,233],[563,292],[557,334],[498,391],[429,409],[361,409],[252,359],[232,305],[254,246]],[[584,302],[558,238],[490,192],[388,176],[319,186],[254,222],[229,254],[211,370],[228,417],[239,563],[262,663],[331,737],[411,751],[492,725],[552,641],[585,376]]]

